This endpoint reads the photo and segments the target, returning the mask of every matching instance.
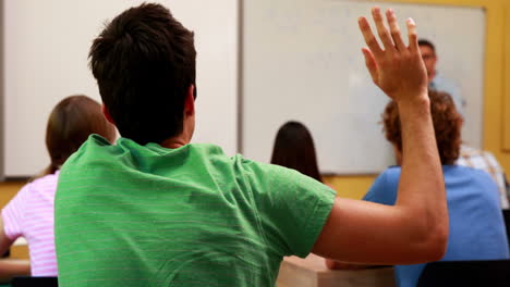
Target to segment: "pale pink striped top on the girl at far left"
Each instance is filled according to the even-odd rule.
[[[57,276],[53,209],[59,172],[25,185],[3,208],[7,237],[25,237],[31,254],[32,276]]]

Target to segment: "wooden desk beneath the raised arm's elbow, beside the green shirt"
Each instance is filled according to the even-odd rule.
[[[328,270],[324,259],[309,254],[305,259],[284,258],[277,279],[278,287],[392,287],[392,267],[360,271]]]

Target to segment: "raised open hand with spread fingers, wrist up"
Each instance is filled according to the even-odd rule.
[[[427,97],[427,73],[417,45],[414,21],[406,21],[409,46],[405,46],[393,10],[389,9],[386,12],[389,30],[378,7],[372,9],[372,15],[384,49],[372,33],[368,21],[360,17],[359,24],[368,46],[362,51],[374,83],[397,102]]]

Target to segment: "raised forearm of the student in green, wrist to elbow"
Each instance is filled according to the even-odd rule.
[[[448,211],[442,169],[429,112],[427,95],[399,102],[402,129],[402,173],[397,207],[410,225],[415,242],[447,236]],[[411,224],[412,221],[412,224]],[[437,236],[436,239],[435,237]]]

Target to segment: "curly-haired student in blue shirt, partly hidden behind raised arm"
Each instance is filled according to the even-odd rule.
[[[450,217],[448,249],[442,260],[509,259],[498,187],[488,173],[454,164],[461,147],[462,117],[448,93],[430,91],[429,98]],[[396,102],[388,103],[382,114],[384,130],[386,138],[393,145],[400,164],[406,155],[402,154],[399,117],[400,107]],[[401,173],[401,166],[386,170],[376,178],[364,200],[394,204]],[[328,263],[329,267],[335,269],[335,264]],[[396,266],[398,286],[416,286],[425,265]]]

